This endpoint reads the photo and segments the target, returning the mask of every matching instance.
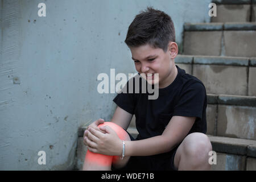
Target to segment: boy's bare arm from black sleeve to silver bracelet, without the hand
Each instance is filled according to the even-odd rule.
[[[191,130],[196,117],[174,116],[162,135],[125,142],[126,156],[148,156],[171,151]]]

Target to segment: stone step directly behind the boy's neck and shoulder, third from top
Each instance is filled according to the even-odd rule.
[[[207,93],[256,96],[256,58],[178,55],[175,64],[201,80]]]

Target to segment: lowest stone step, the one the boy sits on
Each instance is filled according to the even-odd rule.
[[[86,146],[82,143],[82,134],[86,127],[79,129],[76,152],[76,169],[81,169],[86,154]],[[127,130],[135,138],[138,131],[129,127]],[[213,151],[216,152],[216,164],[212,170],[256,170],[256,141],[208,135]],[[214,161],[213,161],[214,162]]]

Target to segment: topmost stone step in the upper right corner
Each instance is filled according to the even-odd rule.
[[[217,16],[211,22],[255,22],[256,3],[251,0],[214,0]]]

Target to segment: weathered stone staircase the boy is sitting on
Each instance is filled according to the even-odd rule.
[[[256,0],[217,0],[211,23],[185,23],[175,64],[207,89],[207,135],[217,152],[212,170],[256,170]],[[79,129],[76,161],[86,147]],[[133,117],[128,131],[136,137]]]

